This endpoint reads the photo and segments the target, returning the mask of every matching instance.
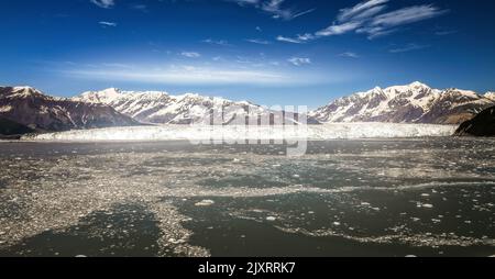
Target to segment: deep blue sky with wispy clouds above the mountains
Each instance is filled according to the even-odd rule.
[[[375,86],[495,89],[495,3],[3,0],[0,85],[311,108]]]

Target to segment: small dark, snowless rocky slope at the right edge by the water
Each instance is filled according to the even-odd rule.
[[[474,119],[461,124],[458,136],[495,136],[495,107],[488,108]]]

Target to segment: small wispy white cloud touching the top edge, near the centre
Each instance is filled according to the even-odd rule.
[[[252,5],[263,12],[272,14],[274,19],[294,20],[314,12],[316,9],[309,9],[305,11],[295,10],[294,8],[285,7],[285,0],[226,0],[229,2],[235,2],[239,5]]]

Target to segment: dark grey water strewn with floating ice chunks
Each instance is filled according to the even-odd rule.
[[[0,256],[491,256],[495,141],[0,143]]]

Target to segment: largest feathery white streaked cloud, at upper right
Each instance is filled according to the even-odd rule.
[[[353,7],[341,9],[333,23],[320,31],[295,37],[278,36],[287,43],[305,43],[320,37],[348,33],[364,34],[370,40],[398,31],[402,26],[429,20],[447,11],[433,4],[421,4],[388,11],[389,0],[367,0]]]

